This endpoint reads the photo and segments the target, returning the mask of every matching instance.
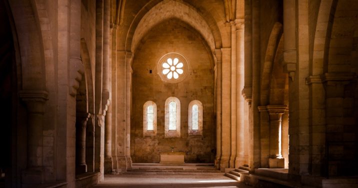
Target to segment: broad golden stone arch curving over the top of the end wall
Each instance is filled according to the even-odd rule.
[[[128,30],[126,50],[134,52],[141,38],[153,26],[169,18],[178,18],[195,28],[203,36],[211,50],[215,49],[217,44],[221,46],[217,25],[212,31],[194,7],[177,0],[163,0],[157,4],[148,2],[136,15]]]

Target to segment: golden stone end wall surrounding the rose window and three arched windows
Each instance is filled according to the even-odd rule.
[[[164,82],[157,73],[158,60],[178,52],[188,62],[186,77],[178,83]],[[166,20],[144,36],[133,56],[130,152],[133,162],[159,162],[160,152],[185,152],[185,162],[213,162],[215,156],[214,73],[211,52],[192,27],[177,20]],[[180,137],[164,136],[165,100],[180,100]],[[143,136],[143,104],[157,106],[157,133]],[[188,135],[188,104],[203,105],[202,136]]]

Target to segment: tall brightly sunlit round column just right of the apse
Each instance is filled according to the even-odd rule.
[[[235,20],[235,34],[236,34],[236,158],[235,167],[239,167],[244,164],[244,116],[243,105],[244,98],[239,92],[243,89],[244,85],[244,20]]]

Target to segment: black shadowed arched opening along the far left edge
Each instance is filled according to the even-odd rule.
[[[0,187],[10,186],[16,174],[16,131],[18,110],[18,78],[15,44],[8,4],[0,1]]]

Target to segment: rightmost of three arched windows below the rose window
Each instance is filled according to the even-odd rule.
[[[202,135],[202,103],[192,100],[188,106],[188,134],[189,136]]]

